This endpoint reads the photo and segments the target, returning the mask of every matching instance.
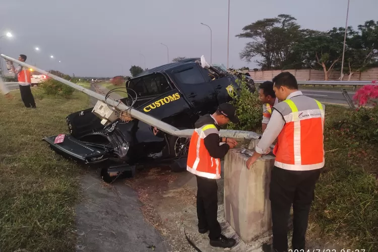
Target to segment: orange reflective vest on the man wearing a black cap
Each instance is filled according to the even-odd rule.
[[[216,133],[218,129],[214,124],[206,124],[193,132],[187,155],[186,170],[200,177],[220,178],[220,159],[210,156],[204,144],[204,138]]]

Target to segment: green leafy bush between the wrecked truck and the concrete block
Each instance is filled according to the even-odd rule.
[[[237,79],[241,90],[229,91],[230,96],[233,98],[231,102],[236,108],[236,114],[240,119],[239,124],[229,123],[227,129],[241,130],[241,131],[257,131],[261,128],[261,120],[263,107],[259,99],[258,92],[251,94],[247,88],[245,76],[242,79]]]

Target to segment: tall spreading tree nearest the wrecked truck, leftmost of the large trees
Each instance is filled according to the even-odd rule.
[[[258,20],[243,27],[243,33],[236,35],[238,38],[253,39],[246,43],[240,59],[250,62],[255,56],[260,56],[262,60],[255,62],[262,69],[283,69],[287,66],[295,67],[300,64],[295,54],[293,46],[301,37],[300,26],[291,15],[281,14],[276,18]]]

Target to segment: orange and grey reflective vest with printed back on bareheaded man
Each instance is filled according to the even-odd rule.
[[[273,153],[275,166],[286,170],[314,170],[324,166],[325,108],[312,98],[294,96],[274,107],[285,120]]]

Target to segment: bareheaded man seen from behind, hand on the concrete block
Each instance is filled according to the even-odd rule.
[[[274,92],[282,102],[273,106],[272,116],[256,151],[246,166],[273,150],[276,160],[271,174],[270,195],[273,221],[273,247],[264,251],[288,251],[287,232],[293,206],[293,251],[305,251],[308,215],[315,184],[324,166],[323,130],[325,106],[298,91],[295,77],[283,72],[274,79]],[[272,250],[271,250],[272,249]]]

